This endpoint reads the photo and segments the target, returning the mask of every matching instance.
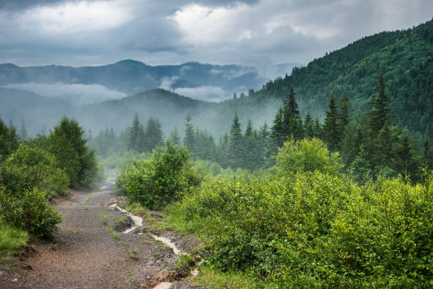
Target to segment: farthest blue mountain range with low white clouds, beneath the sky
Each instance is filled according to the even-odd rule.
[[[292,67],[294,64],[282,64],[271,73],[284,75],[291,72]],[[151,66],[135,60],[122,60],[95,67],[0,64],[0,86],[50,94],[71,103],[77,101],[74,98],[79,98],[78,103],[93,103],[104,100],[104,96],[105,100],[121,98],[157,88],[192,98],[221,101],[231,97],[233,92],[258,89],[266,80],[256,67],[198,62]]]

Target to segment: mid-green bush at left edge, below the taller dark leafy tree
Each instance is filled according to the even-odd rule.
[[[67,174],[59,169],[55,157],[44,149],[20,144],[3,166],[0,186],[12,191],[35,187],[50,195],[65,195],[67,192]]]

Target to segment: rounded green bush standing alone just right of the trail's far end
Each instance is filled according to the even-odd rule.
[[[190,154],[185,147],[166,142],[149,160],[133,162],[116,181],[117,193],[131,203],[160,209],[178,200],[190,186],[198,186],[200,177],[191,168]]]

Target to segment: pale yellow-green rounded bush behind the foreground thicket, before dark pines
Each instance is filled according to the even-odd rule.
[[[316,137],[311,140],[284,142],[279,149],[277,161],[284,174],[293,175],[299,171],[320,171],[335,175],[342,169],[337,152],[330,153],[326,145]]]

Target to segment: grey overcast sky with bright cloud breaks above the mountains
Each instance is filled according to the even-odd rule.
[[[0,0],[0,63],[307,63],[432,16],[432,0]]]

